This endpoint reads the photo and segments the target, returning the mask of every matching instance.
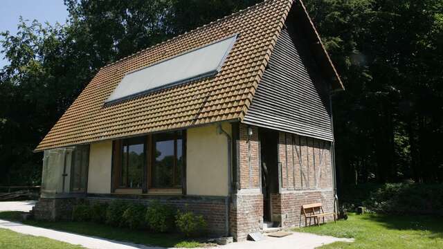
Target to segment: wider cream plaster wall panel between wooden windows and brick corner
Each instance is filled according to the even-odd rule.
[[[222,125],[229,134],[229,123]],[[228,141],[217,126],[188,129],[186,192],[189,195],[228,196]]]

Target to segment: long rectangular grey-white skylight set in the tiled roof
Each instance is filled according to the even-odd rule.
[[[181,55],[127,73],[106,104],[120,102],[152,91],[217,74],[237,35],[201,46]]]

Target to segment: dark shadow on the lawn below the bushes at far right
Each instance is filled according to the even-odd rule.
[[[426,237],[443,239],[443,217],[430,215],[389,215],[366,214],[364,220],[371,220],[390,230],[415,230],[429,232]]]

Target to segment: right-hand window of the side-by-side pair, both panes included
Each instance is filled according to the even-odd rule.
[[[160,133],[153,136],[152,187],[181,187],[183,133]]]

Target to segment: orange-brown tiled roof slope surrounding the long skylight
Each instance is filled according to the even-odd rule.
[[[35,151],[242,120],[291,3],[264,1],[101,68]],[[104,105],[125,73],[234,33],[237,42],[214,77]]]

